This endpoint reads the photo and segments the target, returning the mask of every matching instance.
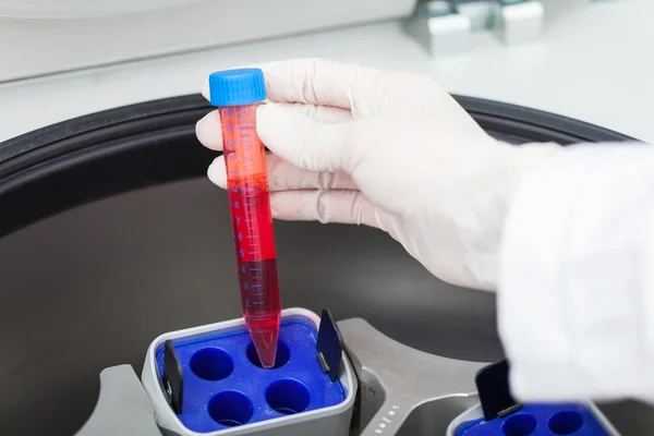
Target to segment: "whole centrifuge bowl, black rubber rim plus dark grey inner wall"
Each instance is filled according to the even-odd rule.
[[[627,140],[458,99],[491,134],[516,144]],[[183,96],[0,144],[3,434],[74,433],[95,405],[102,368],[131,363],[140,372],[161,332],[240,315],[227,196],[207,181],[216,154],[194,134],[209,110],[202,97]],[[275,226],[284,306],[364,317],[441,355],[502,358],[493,294],[443,283],[374,229]],[[641,405],[607,413],[625,434],[654,429]]]

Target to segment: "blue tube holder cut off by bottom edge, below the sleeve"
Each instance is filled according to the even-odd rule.
[[[484,421],[481,404],[459,415],[447,436],[619,436],[593,403],[528,403]]]

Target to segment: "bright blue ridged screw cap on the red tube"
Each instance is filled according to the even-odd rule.
[[[218,71],[209,75],[211,106],[251,105],[266,99],[266,82],[259,69]]]

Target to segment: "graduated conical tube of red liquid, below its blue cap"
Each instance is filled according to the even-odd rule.
[[[275,365],[281,302],[258,104],[220,108],[241,308],[262,366]]]

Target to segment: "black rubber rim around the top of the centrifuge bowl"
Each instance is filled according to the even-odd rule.
[[[455,96],[492,135],[516,144],[633,138],[524,107]],[[0,238],[102,197],[202,177],[217,153],[195,140],[213,108],[201,95],[125,106],[49,125],[0,143]]]

